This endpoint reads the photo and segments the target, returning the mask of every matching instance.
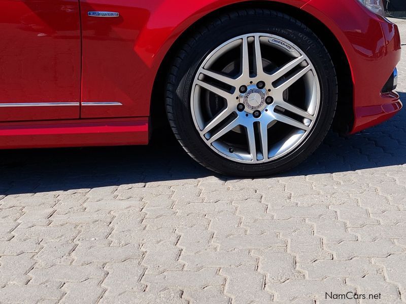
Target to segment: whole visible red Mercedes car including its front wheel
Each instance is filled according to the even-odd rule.
[[[0,148],[147,144],[288,170],[402,107],[381,0],[0,0]]]

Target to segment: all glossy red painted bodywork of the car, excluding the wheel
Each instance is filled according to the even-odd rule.
[[[0,103],[123,104],[0,108],[0,148],[147,143],[152,89],[168,50],[194,22],[239,2],[0,0],[0,9],[8,12],[0,21]],[[352,133],[401,108],[396,94],[380,93],[400,59],[396,25],[357,1],[278,2],[314,16],[341,43],[354,83]],[[89,17],[88,11],[120,17]],[[129,117],[141,117],[142,127],[114,125],[118,118],[134,122]]]

